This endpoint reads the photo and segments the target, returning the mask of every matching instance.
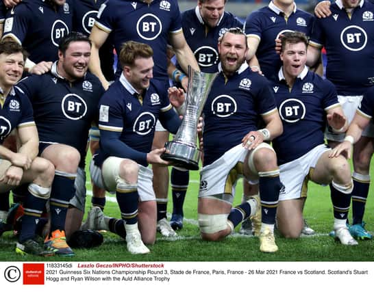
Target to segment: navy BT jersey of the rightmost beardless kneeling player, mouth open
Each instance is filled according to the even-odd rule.
[[[273,140],[279,165],[295,160],[324,143],[327,110],[339,106],[334,85],[304,68],[290,89],[282,68],[271,82],[283,133]]]

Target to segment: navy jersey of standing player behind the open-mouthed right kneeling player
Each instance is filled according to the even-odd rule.
[[[275,39],[286,31],[301,31],[310,36],[313,21],[312,14],[297,9],[296,4],[292,14],[287,18],[273,2],[247,16],[245,34],[260,40],[255,55],[266,78],[276,80],[278,70],[282,66],[282,61],[275,51]]]

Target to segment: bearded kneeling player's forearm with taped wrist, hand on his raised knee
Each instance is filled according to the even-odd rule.
[[[250,131],[242,139],[242,145],[249,150],[256,148],[264,141],[271,141],[283,133],[283,124],[277,109],[263,114],[262,120],[264,120],[266,127],[258,131]]]

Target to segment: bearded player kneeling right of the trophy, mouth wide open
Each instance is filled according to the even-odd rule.
[[[201,237],[222,239],[260,211],[255,198],[232,208],[236,181],[244,176],[259,182],[260,250],[276,252],[273,231],[282,183],[275,152],[264,141],[282,134],[282,122],[268,81],[245,62],[248,47],[242,29],[228,29],[219,39],[218,50],[220,73],[203,109],[204,159],[198,201]],[[264,129],[258,129],[260,120]]]

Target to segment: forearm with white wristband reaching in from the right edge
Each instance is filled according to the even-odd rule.
[[[358,111],[356,111],[356,115],[354,116],[351,124],[349,124],[344,141],[332,149],[329,157],[338,157],[341,154],[347,157],[347,159],[350,159],[352,145],[360,140],[362,131],[364,131],[370,120],[371,118],[362,116]]]

